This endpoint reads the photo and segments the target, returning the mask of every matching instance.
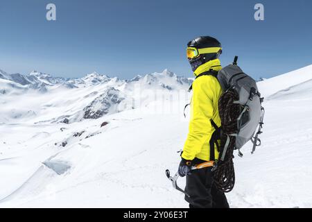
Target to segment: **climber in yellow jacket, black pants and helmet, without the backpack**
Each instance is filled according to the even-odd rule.
[[[214,160],[218,160],[221,120],[218,100],[223,89],[215,77],[222,69],[219,56],[222,46],[214,37],[197,37],[187,44],[187,58],[196,76],[191,88],[191,120],[178,169],[187,176],[185,200],[190,208],[229,208],[227,198],[214,182]],[[200,78],[199,78],[200,77]],[[211,162],[211,167],[191,171],[194,165]]]

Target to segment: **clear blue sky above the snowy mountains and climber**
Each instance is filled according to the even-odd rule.
[[[57,20],[46,20],[55,3]],[[265,21],[254,20],[263,3]],[[187,42],[211,35],[221,62],[235,55],[254,78],[312,64],[312,1],[1,0],[0,69],[119,78],[162,71],[192,76]]]

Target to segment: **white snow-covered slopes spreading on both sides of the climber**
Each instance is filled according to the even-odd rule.
[[[227,194],[232,207],[312,207],[312,70],[300,70],[259,83],[268,98],[262,146],[251,155],[248,144],[244,157],[234,159],[236,186]],[[175,173],[180,162],[176,151],[187,137],[182,110],[189,96],[177,92],[189,84],[164,73],[153,80],[157,75],[137,76],[111,92],[96,84],[29,92],[19,101],[0,94],[7,110],[1,116],[12,108],[36,113],[0,120],[0,177],[6,178],[0,180],[0,207],[188,207],[164,171]],[[125,94],[136,83],[159,86],[162,99],[132,107],[135,96]],[[88,104],[114,110],[121,103],[131,105],[98,119],[56,121],[61,114],[83,115]],[[178,182],[183,187],[184,178]]]

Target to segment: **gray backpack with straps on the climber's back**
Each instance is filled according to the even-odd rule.
[[[237,65],[236,56],[232,65],[224,67],[218,72],[218,81],[223,88],[223,92],[229,89],[234,89],[239,95],[239,100],[234,103],[241,105],[241,114],[237,119],[238,133],[230,136],[236,137],[236,149],[240,149],[249,140],[253,143],[252,153],[254,153],[256,146],[261,145],[261,140],[258,136],[262,133],[264,108],[262,107],[263,98],[258,91],[256,81],[245,74]],[[258,129],[258,131],[257,131]],[[226,153],[227,144],[225,144]],[[243,154],[239,151],[239,155]]]

